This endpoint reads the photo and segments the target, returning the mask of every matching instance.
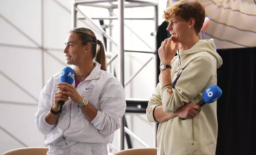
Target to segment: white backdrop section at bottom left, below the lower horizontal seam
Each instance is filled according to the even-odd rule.
[[[8,109],[12,110],[12,117],[8,117],[7,119],[6,117],[10,115],[10,111],[6,110],[4,104],[0,104],[0,125],[29,147],[44,146],[44,136],[35,126],[34,118],[37,112],[37,106],[10,104]],[[8,141],[10,138],[6,140]]]

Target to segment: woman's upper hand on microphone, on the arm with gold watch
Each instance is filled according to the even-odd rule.
[[[73,85],[68,83],[58,83],[57,87],[59,89],[65,89],[66,91],[61,91],[60,93],[69,96],[74,103],[79,104],[82,102],[83,98],[78,94],[78,91]]]

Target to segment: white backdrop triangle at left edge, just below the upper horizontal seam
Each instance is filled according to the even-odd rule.
[[[5,58],[0,61],[0,70],[27,90],[34,98],[38,98],[42,87],[41,50],[0,48],[0,53]],[[8,91],[8,87],[6,90]],[[28,102],[30,102],[29,99]]]

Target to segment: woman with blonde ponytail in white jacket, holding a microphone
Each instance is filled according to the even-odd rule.
[[[47,155],[107,155],[126,110],[124,88],[107,72],[103,43],[89,28],[74,28],[65,44],[75,81],[60,83],[61,72],[53,75],[35,114],[37,128],[47,136]],[[65,101],[61,113],[59,101]]]

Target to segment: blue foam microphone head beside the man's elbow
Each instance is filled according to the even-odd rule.
[[[203,99],[206,103],[215,102],[222,95],[222,90],[217,85],[211,85],[203,93]]]

